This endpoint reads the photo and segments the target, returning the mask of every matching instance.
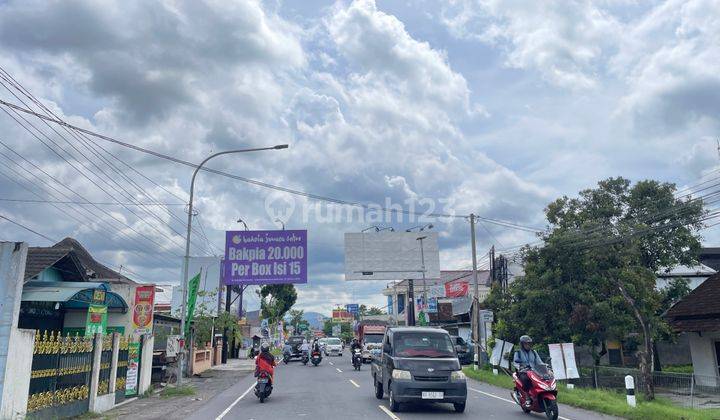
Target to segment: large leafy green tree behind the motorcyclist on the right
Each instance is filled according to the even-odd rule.
[[[507,296],[493,290],[487,302],[497,311],[498,333],[571,339],[595,352],[599,346],[597,362],[606,339],[638,332],[644,393],[653,399],[653,342],[666,329],[656,273],[696,261],[705,214],[701,201],[674,193],[673,184],[609,178],[550,203],[543,245],[523,250],[524,278]]]

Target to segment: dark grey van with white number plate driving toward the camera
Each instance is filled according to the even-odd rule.
[[[411,402],[453,404],[465,411],[467,384],[450,334],[423,327],[389,328],[382,354],[373,358],[371,375],[375,397],[390,397],[390,410]]]

